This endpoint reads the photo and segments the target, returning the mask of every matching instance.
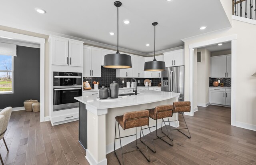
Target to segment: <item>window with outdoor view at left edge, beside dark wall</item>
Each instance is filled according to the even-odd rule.
[[[13,93],[13,56],[0,55],[0,94]]]

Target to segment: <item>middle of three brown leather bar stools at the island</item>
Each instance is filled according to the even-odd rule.
[[[166,124],[165,124],[165,122],[169,122],[169,125],[170,125],[169,117],[172,117],[172,105],[159,105],[159,106],[156,106],[153,109],[148,109],[148,111],[149,111],[149,117],[156,121],[156,126],[152,126],[152,127],[156,127],[156,136],[157,136],[156,139],[161,139],[162,141],[166,142],[168,145],[173,146],[173,143],[172,143],[173,137],[170,136],[170,133],[169,133],[169,131],[166,127]],[[166,117],[167,117],[168,121],[164,121],[164,118],[166,118]],[[157,135],[157,120],[158,119],[162,119],[162,123],[164,123],[168,135],[162,131],[162,127],[161,127],[161,131],[162,131],[162,133],[164,133],[164,136],[160,137],[160,136]],[[150,128],[152,128],[152,127],[149,127],[149,131],[150,131]],[[144,129],[148,129],[148,128],[144,128]],[[170,127],[170,132],[171,132],[171,135],[172,135],[171,127]],[[140,133],[140,137],[141,137],[141,133]],[[171,143],[168,143],[167,141],[162,139],[163,137],[168,137],[170,139]],[[153,139],[152,141],[154,141],[156,139]],[[140,138],[140,141],[142,143],[144,143],[141,140],[141,138]],[[154,142],[153,142],[153,146],[154,146],[154,149],[151,149],[150,147],[148,147],[148,148],[151,149],[152,152],[156,153],[156,147],[154,145]]]

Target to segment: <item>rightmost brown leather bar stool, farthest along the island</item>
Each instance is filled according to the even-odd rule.
[[[176,120],[173,120],[173,121],[176,121],[176,128],[177,128],[177,129],[172,129],[172,131],[178,130],[179,132],[181,132],[181,133],[182,133],[183,135],[185,135],[186,137],[191,138],[191,135],[190,135],[189,130],[188,130],[189,136],[186,135],[185,133],[183,133],[182,131],[180,131],[181,129],[188,129],[188,126],[187,126],[187,123],[186,123],[186,120],[185,120],[185,118],[184,118],[183,113],[184,113],[184,112],[190,112],[190,109],[191,109],[191,107],[190,107],[190,101],[177,101],[177,102],[174,102],[172,106],[173,106],[173,113],[176,113]],[[178,113],[181,113],[181,114],[182,114],[182,117],[183,117],[183,119],[184,119],[186,128],[179,128],[179,129],[178,129],[178,120],[177,120],[177,119],[178,119]],[[170,122],[172,122],[172,121],[170,121]]]

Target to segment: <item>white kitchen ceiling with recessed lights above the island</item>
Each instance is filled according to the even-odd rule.
[[[156,51],[183,46],[181,39],[231,26],[220,0],[121,2],[119,46],[141,53],[154,52],[152,22],[158,22]],[[114,0],[5,0],[1,2],[0,25],[33,32],[54,32],[116,46],[117,8],[113,3]],[[36,7],[47,13],[37,13]],[[124,24],[125,19],[130,20],[130,24]],[[207,28],[199,30],[200,26]],[[109,32],[115,35],[110,36]]]

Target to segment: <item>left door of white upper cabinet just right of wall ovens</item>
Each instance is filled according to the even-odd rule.
[[[92,48],[84,46],[84,73],[83,77],[92,77]]]

